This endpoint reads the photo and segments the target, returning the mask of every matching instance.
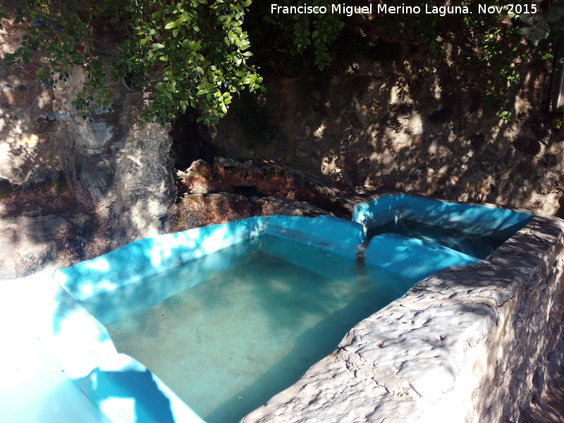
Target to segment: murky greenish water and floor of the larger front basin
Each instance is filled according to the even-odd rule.
[[[415,283],[266,235],[242,244],[230,248],[247,248],[243,264],[106,324],[120,352],[209,423],[238,422]]]

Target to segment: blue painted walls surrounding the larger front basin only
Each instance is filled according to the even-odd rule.
[[[60,298],[61,312],[54,316],[54,353],[78,388],[112,422],[204,423],[146,367],[119,354],[103,323],[135,311],[137,295],[144,296],[145,307],[148,295],[152,295],[150,302],[159,302],[200,283],[203,274],[209,277],[210,272],[227,269],[245,255],[245,250],[233,251],[221,260],[210,253],[261,235],[295,240],[351,259],[357,245],[364,241],[362,226],[344,219],[259,216],[137,240],[55,271],[54,281],[65,290]],[[200,259],[197,266],[179,270],[189,272],[180,278],[182,283],[159,278],[159,272],[195,259]],[[149,279],[148,284],[137,283],[144,278]],[[134,414],[104,407],[108,398],[133,398]]]

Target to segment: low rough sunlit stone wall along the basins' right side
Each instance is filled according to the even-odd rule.
[[[243,422],[517,422],[564,364],[563,262],[564,223],[534,216],[360,322]]]

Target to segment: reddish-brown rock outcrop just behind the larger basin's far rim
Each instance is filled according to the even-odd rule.
[[[171,232],[250,216],[350,216],[341,190],[288,166],[216,157],[213,166],[197,160],[177,176],[183,195],[171,212]]]

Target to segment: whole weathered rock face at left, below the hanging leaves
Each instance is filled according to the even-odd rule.
[[[2,23],[3,58],[19,47],[25,24]],[[140,119],[150,98],[110,78],[111,109],[79,118],[71,102],[84,75],[74,69],[45,89],[35,82],[41,60],[36,54],[25,66],[0,62],[0,278],[157,235],[176,197],[169,125]],[[39,118],[57,112],[65,118]]]

